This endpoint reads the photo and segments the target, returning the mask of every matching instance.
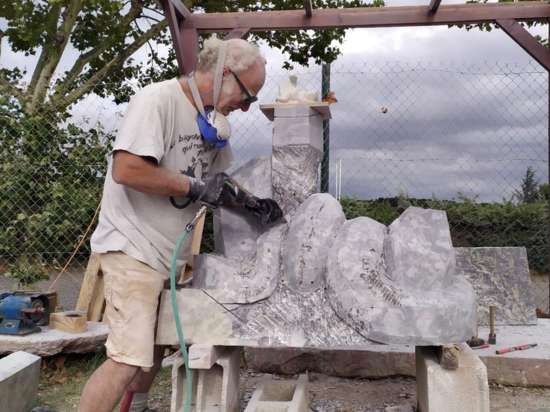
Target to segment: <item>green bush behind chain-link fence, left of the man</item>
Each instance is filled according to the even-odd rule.
[[[22,283],[67,259],[101,198],[111,136],[60,124],[0,102],[0,256]]]

